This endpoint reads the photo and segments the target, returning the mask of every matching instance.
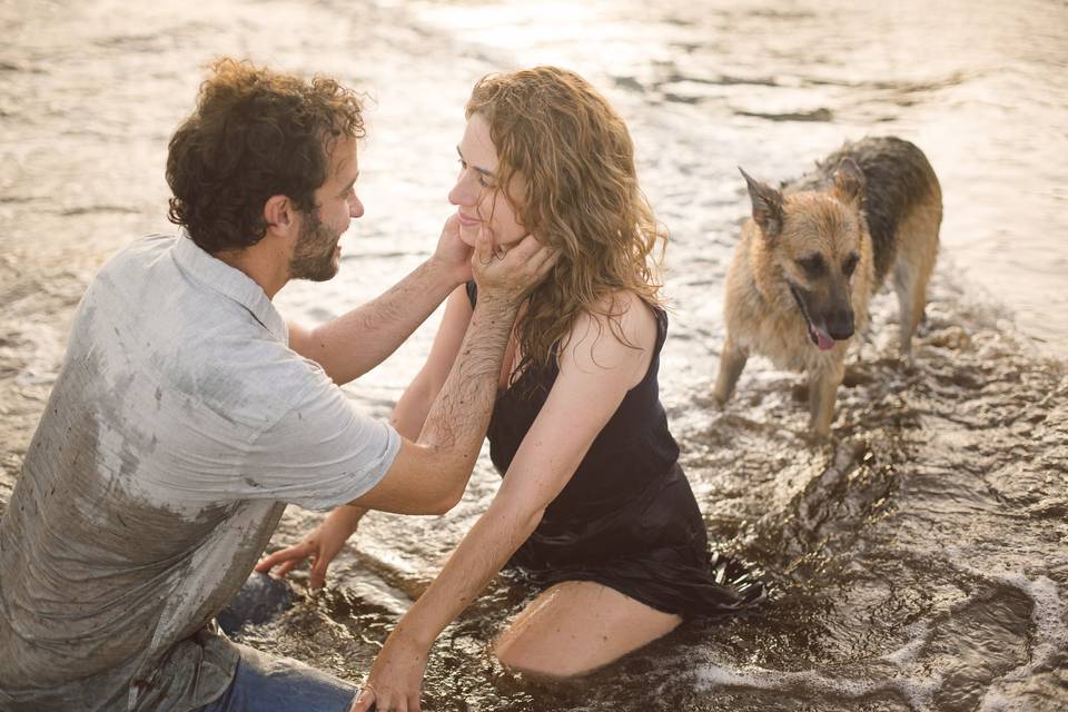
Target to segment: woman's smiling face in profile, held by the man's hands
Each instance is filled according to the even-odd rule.
[[[459,176],[448,191],[448,201],[459,214],[459,238],[474,246],[478,230],[490,230],[494,245],[511,245],[526,235],[520,218],[497,184],[497,149],[490,139],[490,125],[471,115],[459,151]],[[521,180],[513,177],[513,187]]]

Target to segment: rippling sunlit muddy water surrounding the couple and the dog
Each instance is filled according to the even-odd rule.
[[[343,240],[342,274],[278,298],[306,322],[425,257],[474,80],[552,61],[602,87],[632,127],[673,239],[665,405],[710,537],[761,566],[774,595],[546,685],[487,652],[526,595],[503,576],[435,647],[426,706],[1068,706],[1068,379],[1055,360],[1068,345],[1068,9],[734,4],[0,1],[0,503],[86,284],[119,246],[167,228],[166,141],[212,56],[373,95],[367,215]],[[897,359],[883,296],[830,443],[801,437],[801,380],[767,362],[714,408],[722,280],[746,210],[735,166],[789,178],[847,138],[891,132],[924,149],[946,196],[914,368]],[[348,387],[354,400],[387,415],[432,336]],[[369,515],[323,595],[244,640],[359,679],[495,487],[483,458],[448,516]],[[275,543],[315,521],[289,512]]]

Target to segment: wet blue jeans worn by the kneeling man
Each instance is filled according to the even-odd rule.
[[[254,572],[219,614],[219,623],[231,634],[246,622],[263,623],[290,601],[285,583]],[[200,712],[346,712],[358,692],[355,685],[291,657],[235,646],[241,659],[234,681]]]

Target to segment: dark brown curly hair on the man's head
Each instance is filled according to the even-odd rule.
[[[363,138],[359,97],[334,79],[305,81],[224,58],[167,155],[167,217],[208,253],[241,249],[267,234],[264,205],[287,196],[315,208],[342,137]]]

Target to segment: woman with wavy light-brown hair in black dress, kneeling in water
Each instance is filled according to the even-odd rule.
[[[501,488],[386,641],[360,712],[418,709],[434,640],[510,560],[547,589],[495,652],[541,675],[587,672],[684,615],[736,611],[760,592],[744,576],[715,582],[659,402],[666,316],[652,254],[666,236],[639,190],[623,121],[585,80],[551,67],[484,78],[466,113],[449,192],[461,237],[473,245],[488,230],[505,250],[530,233],[560,259],[505,352],[488,432]],[[449,298],[426,365],[397,404],[402,434],[422,428],[476,299],[473,286]],[[358,516],[343,507],[260,571],[285,562],[285,573],[312,555],[320,583]]]

